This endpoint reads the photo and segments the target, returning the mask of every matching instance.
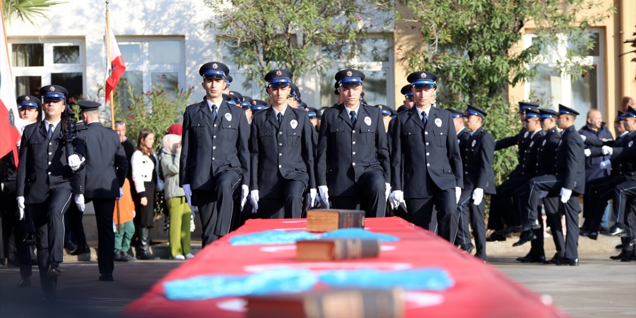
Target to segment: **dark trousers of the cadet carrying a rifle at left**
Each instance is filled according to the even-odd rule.
[[[57,277],[49,277],[48,266],[64,260],[64,213],[73,204],[71,197],[71,188],[59,187],[50,190],[45,202],[25,204],[36,228],[40,285],[47,295],[57,289]]]

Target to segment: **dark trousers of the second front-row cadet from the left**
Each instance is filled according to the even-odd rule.
[[[303,212],[305,183],[298,180],[282,179],[279,198],[260,198],[258,211],[263,219],[299,219]],[[259,193],[265,195],[266,193]]]

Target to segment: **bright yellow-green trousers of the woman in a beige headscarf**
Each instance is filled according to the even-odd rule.
[[[170,214],[170,228],[168,243],[170,257],[186,255],[190,249],[190,215],[192,211],[186,202],[186,197],[172,197],[166,201]]]

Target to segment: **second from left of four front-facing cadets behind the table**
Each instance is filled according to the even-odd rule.
[[[300,218],[305,189],[310,189],[310,207],[316,197],[314,127],[304,110],[287,104],[292,77],[286,69],[265,75],[272,107],[252,121],[250,200],[253,212],[266,219]]]

